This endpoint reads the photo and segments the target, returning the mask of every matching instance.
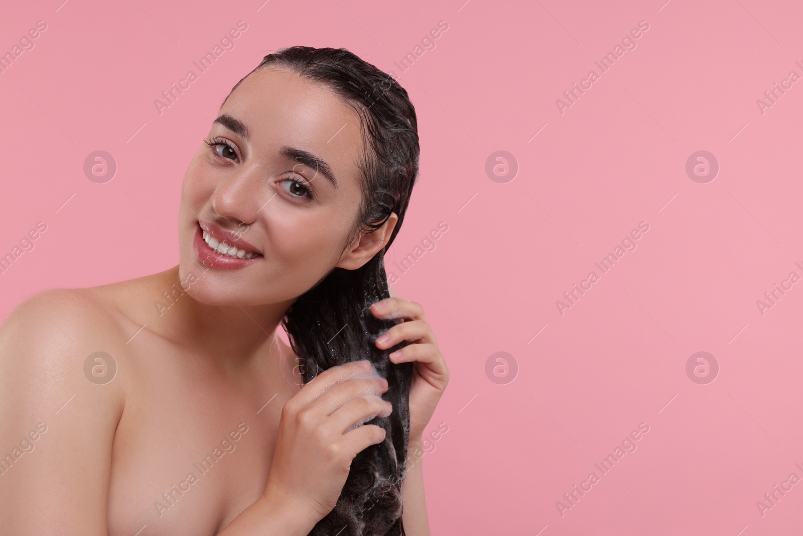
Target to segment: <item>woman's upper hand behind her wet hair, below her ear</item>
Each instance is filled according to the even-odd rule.
[[[446,359],[438,349],[438,341],[421,305],[404,298],[389,297],[371,305],[371,313],[377,318],[399,322],[377,338],[377,348],[387,350],[399,342],[410,342],[389,357],[393,363],[414,362],[410,383],[410,442],[420,442],[424,428],[449,383]]]

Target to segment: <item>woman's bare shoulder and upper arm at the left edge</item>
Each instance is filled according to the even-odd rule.
[[[64,291],[35,294],[0,326],[0,526],[107,534],[119,383],[84,376],[103,321]],[[89,319],[89,321],[88,321]]]

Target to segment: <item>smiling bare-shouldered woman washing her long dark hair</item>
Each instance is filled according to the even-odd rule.
[[[310,371],[273,333],[284,319],[307,353],[365,338],[370,296],[349,293],[384,281],[416,129],[406,91],[344,49],[283,49],[240,80],[185,174],[180,264],[36,294],[0,326],[0,526],[272,535],[326,517],[357,453],[385,440],[362,423],[391,411],[388,383],[360,356]],[[449,371],[420,305],[370,313],[399,322],[374,350],[410,343],[390,360],[414,363],[413,451]],[[406,534],[429,534],[421,463],[401,493]]]

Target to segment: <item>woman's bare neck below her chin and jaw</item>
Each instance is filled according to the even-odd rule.
[[[291,303],[209,305],[181,286],[178,266],[157,274],[173,304],[162,311],[157,333],[229,369],[279,357],[276,328]],[[183,293],[181,293],[183,292]],[[162,294],[165,305],[169,304]]]

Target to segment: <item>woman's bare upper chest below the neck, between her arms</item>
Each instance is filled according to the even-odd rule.
[[[169,364],[139,379],[112,444],[108,534],[216,534],[262,495],[290,394]]]

